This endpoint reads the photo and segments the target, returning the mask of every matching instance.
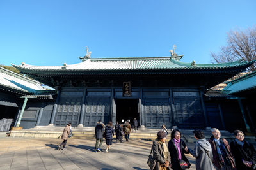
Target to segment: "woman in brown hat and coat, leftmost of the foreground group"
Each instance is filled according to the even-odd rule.
[[[153,158],[156,160],[154,170],[163,169],[170,170],[170,153],[166,146],[166,134],[164,131],[157,132],[157,138],[153,141],[152,152]]]

